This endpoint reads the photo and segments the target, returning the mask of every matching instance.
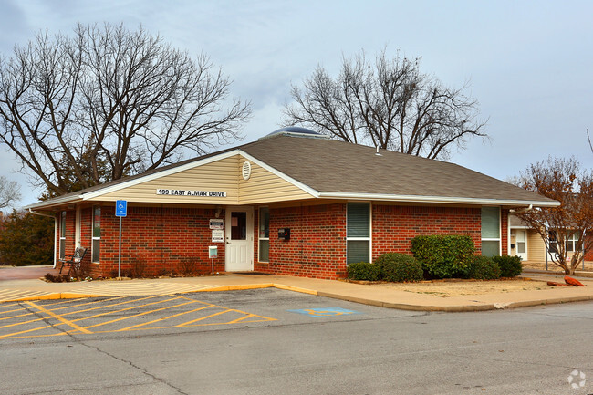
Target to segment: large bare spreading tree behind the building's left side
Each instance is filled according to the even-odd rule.
[[[208,57],[142,28],[46,32],[0,58],[0,142],[60,195],[72,178],[86,188],[240,138],[250,104],[229,86]]]

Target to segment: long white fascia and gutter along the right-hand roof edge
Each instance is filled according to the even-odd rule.
[[[334,199],[359,199],[372,201],[387,201],[401,203],[445,203],[445,204],[477,204],[477,205],[510,205],[534,207],[557,207],[560,202],[538,202],[520,201],[514,199],[478,199],[449,196],[418,196],[418,195],[395,195],[380,193],[351,193],[351,192],[319,192],[319,198]]]

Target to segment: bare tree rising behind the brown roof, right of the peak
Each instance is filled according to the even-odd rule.
[[[474,136],[486,137],[476,120],[478,103],[462,88],[447,88],[419,67],[420,58],[371,64],[364,52],[343,58],[338,78],[318,67],[303,88],[292,87],[283,123],[301,124],[338,140],[426,158],[446,158]]]

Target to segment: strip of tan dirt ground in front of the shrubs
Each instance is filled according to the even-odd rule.
[[[508,292],[551,288],[551,286],[546,285],[545,281],[535,281],[524,278],[495,281],[439,280],[421,283],[384,283],[375,286],[394,287],[401,291],[441,297],[504,294]]]

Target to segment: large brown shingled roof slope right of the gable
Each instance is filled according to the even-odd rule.
[[[454,163],[343,141],[279,136],[242,150],[318,192],[554,203]]]

